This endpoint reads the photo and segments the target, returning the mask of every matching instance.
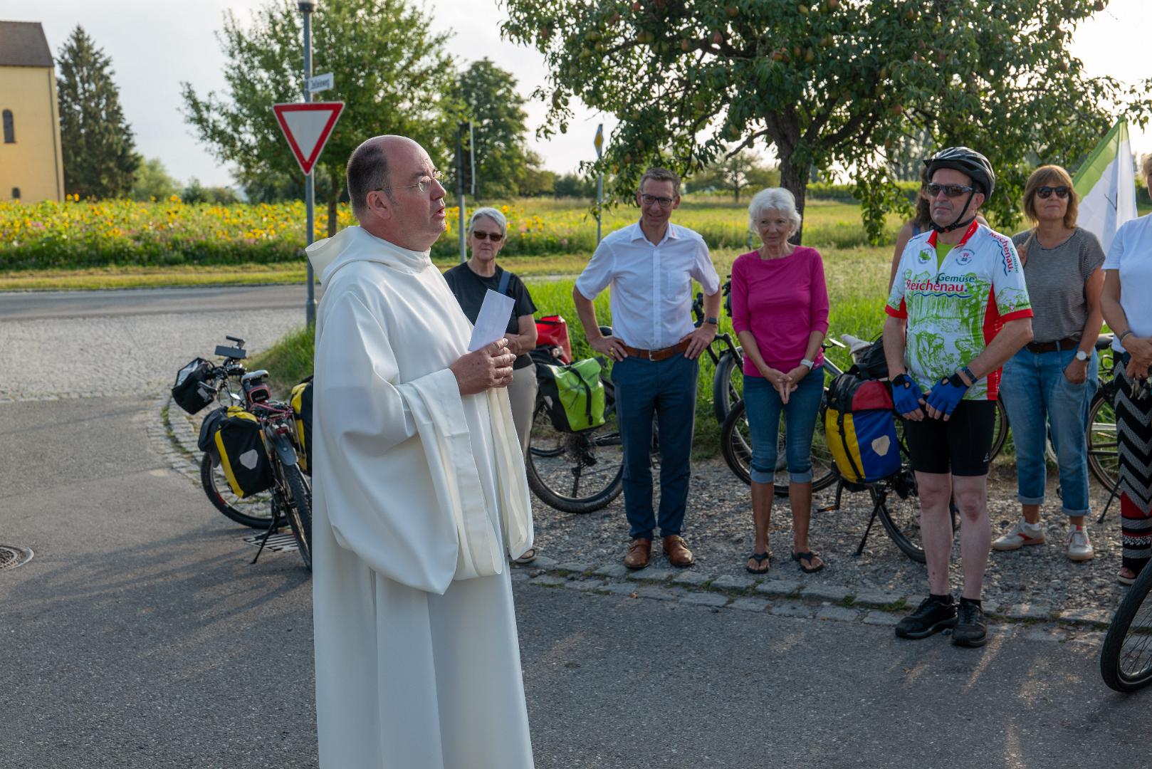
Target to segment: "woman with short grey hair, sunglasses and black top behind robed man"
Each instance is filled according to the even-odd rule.
[[[472,256],[463,264],[457,264],[444,273],[448,287],[455,294],[460,308],[472,323],[480,312],[484,295],[491,288],[515,300],[511,318],[505,338],[508,349],[516,354],[513,363],[513,380],[508,385],[508,400],[511,404],[511,417],[516,423],[516,435],[521,448],[528,452],[528,442],[532,432],[532,412],[536,408],[536,365],[529,352],[536,347],[536,304],[528,293],[524,282],[497,265],[497,254],[503,248],[508,233],[508,220],[498,209],[477,209],[468,221],[468,248]],[[536,549],[530,549],[520,563],[530,563],[536,557]]]

